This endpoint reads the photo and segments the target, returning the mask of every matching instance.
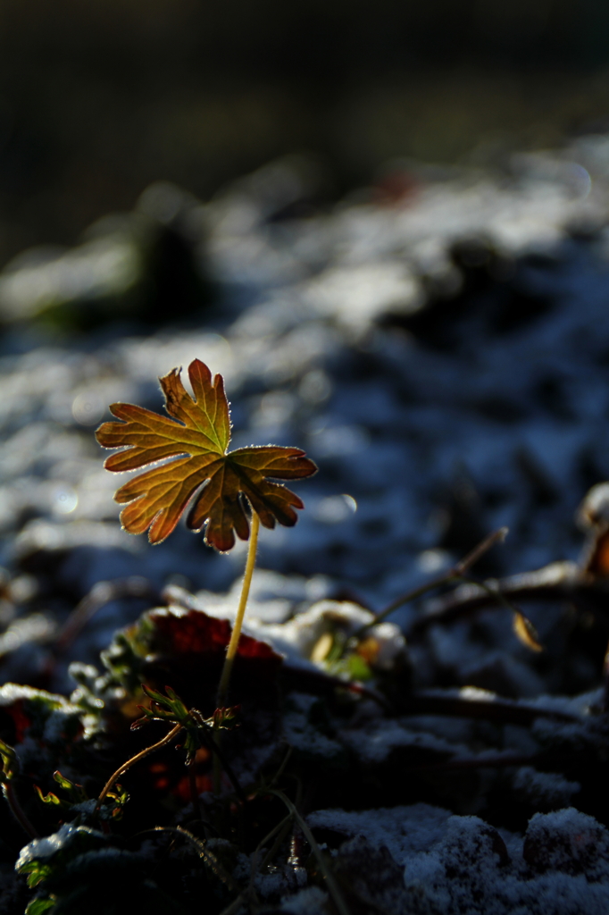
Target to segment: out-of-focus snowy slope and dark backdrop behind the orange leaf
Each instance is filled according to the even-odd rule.
[[[575,522],[609,479],[608,305],[601,0],[0,0],[0,677],[48,682],[102,581],[136,576],[54,688],[167,582],[234,597],[244,544],[125,533],[93,435],[194,358],[237,447],[319,466],[262,533],[261,606],[380,609],[501,525],[481,574],[576,564],[609,517]],[[558,659],[581,630],[545,686],[509,619],[433,664],[588,688],[609,628],[563,610],[530,611]]]

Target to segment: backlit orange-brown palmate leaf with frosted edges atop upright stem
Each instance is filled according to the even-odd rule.
[[[187,516],[193,531],[205,527],[205,542],[222,552],[250,535],[243,497],[265,527],[275,522],[292,527],[294,509],[303,502],[271,479],[312,476],[316,467],[300,448],[276,445],[237,448],[230,444],[229,404],[221,375],[211,378],[207,365],[196,359],[188,366],[194,399],[173,369],[160,379],[166,398],[166,418],[134,404],[112,404],[118,423],[103,423],[97,440],[103,447],[122,448],[104,467],[115,472],[172,460],[147,470],[114,493],[127,503],[121,522],[130,533],[149,529],[151,544],[160,544],[174,530],[197,490]]]

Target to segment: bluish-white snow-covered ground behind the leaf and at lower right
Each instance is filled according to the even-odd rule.
[[[12,576],[0,607],[3,680],[37,682],[49,640],[104,580],[143,576],[153,588],[200,592],[212,614],[234,612],[243,545],[216,555],[184,528],[156,547],[122,532],[117,478],[102,469],[93,436],[112,402],[160,410],[156,378],[193,358],[225,377],[237,447],[294,445],[319,465],[295,487],[306,505],[295,528],[262,533],[250,611],[257,637],[274,632],[281,642],[285,620],[294,629],[326,598],[379,610],[502,525],[508,541],[486,557],[486,575],[577,560],[575,511],[609,478],[609,140],[518,156],[502,174],[408,169],[400,199],[370,191],[310,216],[290,210],[315,182],[296,159],[208,204],[157,185],[138,213],[80,249],[22,259],[0,276],[0,530]],[[207,318],[127,336],[102,328],[86,339],[20,323],[70,296],[86,308],[129,288],[138,220],[172,225],[194,246],[220,290]],[[53,687],[68,691],[69,660],[97,662],[113,630],[149,604],[102,601]],[[417,612],[392,619],[408,630]],[[486,611],[409,645],[415,684],[516,699],[597,687],[600,664],[582,646],[572,645],[564,673],[564,608],[530,615],[552,645],[550,662],[518,641],[508,613]],[[294,633],[286,638],[284,650]],[[383,732],[381,756],[420,743],[471,749],[470,725],[457,725],[373,720],[368,734],[400,731],[393,744]],[[512,751],[541,739],[512,737]],[[537,791],[544,811],[524,839],[422,804],[322,811],[309,822],[349,838],[345,873],[361,856],[379,856],[379,873],[385,862],[383,911],[604,912],[606,830],[571,808],[551,812],[579,790],[557,778],[526,767],[514,774],[510,790],[529,802]],[[378,896],[362,879],[361,894]],[[282,911],[321,911],[325,900],[305,888]]]

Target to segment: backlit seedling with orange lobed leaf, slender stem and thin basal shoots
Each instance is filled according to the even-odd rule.
[[[168,418],[134,404],[112,404],[110,410],[118,422],[103,423],[96,432],[97,440],[102,447],[118,449],[104,463],[104,467],[112,472],[120,473],[164,462],[130,479],[115,492],[115,501],[125,505],[121,512],[124,530],[136,534],[148,531],[150,543],[161,544],[175,530],[190,505],[187,527],[194,532],[204,530],[208,546],[226,553],[235,544],[235,534],[241,540],[249,540],[239,608],[219,678],[217,707],[213,715],[206,718],[198,709],[188,708],[171,686],[166,686],[165,694],[162,694],[142,684],[150,706],[140,706],[142,717],[134,722],[132,729],[142,727],[148,721],[162,721],[172,727],[165,737],[128,759],[112,774],[96,802],[94,813],[98,815],[106,798],[114,797],[110,792],[127,770],[182,732],[186,734],[184,748],[191,773],[191,800],[195,813],[200,817],[193,764],[201,748],[208,748],[213,756],[215,793],[220,792],[220,771],[223,769],[235,797],[242,805],[246,804],[248,799],[222,753],[220,734],[239,723],[239,707],[227,706],[226,700],[256,563],[259,528],[262,523],[272,529],[276,522],[286,527],[294,526],[297,521],[294,510],[303,509],[304,503],[276,480],[304,479],[313,476],[317,470],[314,462],[306,458],[300,448],[269,445],[230,451],[230,408],[221,375],[212,378],[207,365],[199,360],[192,361],[188,377],[194,397],[187,392],[180,376],[181,370],[174,369],[160,379]],[[289,751],[280,772],[288,757]],[[317,853],[319,868],[326,878],[337,910],[341,915],[348,915],[340,890],[307,824],[289,797],[275,787],[280,772],[268,784],[262,785],[259,792],[283,802],[287,815],[262,839],[254,853],[254,862],[265,843],[272,839],[276,841],[278,836],[283,840],[290,827],[299,823]],[[190,838],[197,842],[194,836],[190,835]],[[202,856],[208,865],[209,859],[213,860],[213,856],[206,852]],[[220,866],[215,862],[213,867],[218,870]],[[229,910],[237,910],[243,902],[251,900],[252,895],[255,897],[250,886],[247,893],[241,893],[233,900]]]

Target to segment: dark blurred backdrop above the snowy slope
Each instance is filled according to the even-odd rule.
[[[305,151],[336,198],[603,130],[608,63],[602,0],[2,0],[0,264],[158,178],[206,199]]]

